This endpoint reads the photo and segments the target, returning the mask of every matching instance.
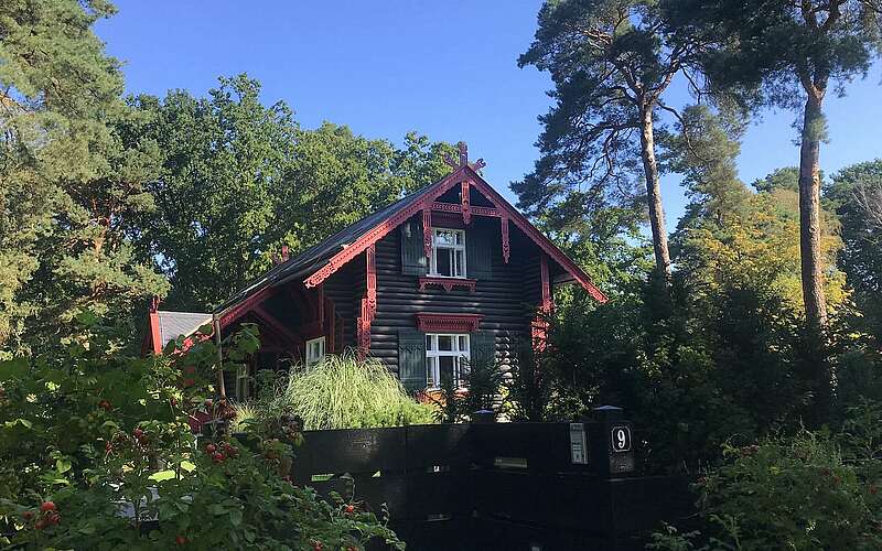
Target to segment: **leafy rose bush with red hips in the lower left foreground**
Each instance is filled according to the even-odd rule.
[[[372,512],[279,475],[298,434],[194,446],[192,415],[224,417],[212,341],[184,354],[108,353],[95,320],[63,357],[0,363],[0,545],[54,549],[402,549]],[[257,348],[223,346],[235,368]],[[170,350],[171,352],[171,350]],[[283,471],[283,469],[282,469]]]

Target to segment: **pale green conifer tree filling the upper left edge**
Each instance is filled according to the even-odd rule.
[[[157,144],[119,99],[119,63],[94,23],[109,2],[0,7],[0,347],[68,337],[83,309],[131,333],[132,309],[168,283],[131,242],[152,209]]]

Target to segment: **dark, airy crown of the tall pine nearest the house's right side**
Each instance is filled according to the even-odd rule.
[[[662,210],[641,191],[658,181],[652,121],[689,51],[669,42],[656,2],[548,1],[538,19],[518,64],[550,74],[555,105],[540,117],[540,159],[512,188],[564,250],[614,285],[645,261],[634,241],[645,239],[636,228],[647,199]],[[653,228],[657,249],[666,249],[662,231]]]

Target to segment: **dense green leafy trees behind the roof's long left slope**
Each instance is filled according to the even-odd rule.
[[[246,75],[207,98],[176,90],[132,104],[164,153],[142,244],[162,259],[178,307],[216,306],[282,246],[297,253],[449,171],[451,148],[416,133],[399,150],[330,122],[303,129],[283,101],[263,106]]]

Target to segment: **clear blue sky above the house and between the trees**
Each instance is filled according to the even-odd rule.
[[[512,181],[538,156],[536,117],[550,105],[548,75],[517,67],[536,29],[538,0],[254,2],[117,0],[119,13],[98,24],[110,54],[125,63],[128,91],[204,95],[218,76],[248,73],[263,100],[286,100],[304,127],[323,120],[400,143],[417,130],[433,140],[465,140],[484,174],[509,199]],[[879,66],[830,96],[828,174],[882,156]],[[677,90],[675,90],[675,96]],[[673,105],[688,100],[685,94]],[[798,163],[794,116],[764,114],[739,158],[751,182]],[[668,227],[685,197],[676,176],[663,179]]]

